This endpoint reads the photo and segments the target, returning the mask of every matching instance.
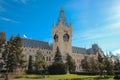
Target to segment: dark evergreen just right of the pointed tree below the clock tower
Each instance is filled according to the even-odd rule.
[[[76,65],[75,65],[75,61],[72,59],[72,57],[67,54],[67,59],[66,59],[66,64],[67,64],[67,68],[69,70],[69,72],[75,72],[75,68],[76,68]]]

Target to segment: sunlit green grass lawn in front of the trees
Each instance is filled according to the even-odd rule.
[[[79,80],[114,80],[113,77],[103,78],[99,76],[87,76],[87,75],[76,75],[76,74],[66,74],[66,75],[47,75],[44,78],[41,75],[24,75],[23,78],[18,78],[14,80],[68,80],[68,79],[79,79]]]

